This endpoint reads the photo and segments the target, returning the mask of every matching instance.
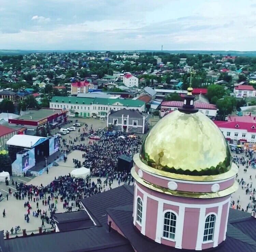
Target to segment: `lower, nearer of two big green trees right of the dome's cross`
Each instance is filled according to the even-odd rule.
[[[216,102],[218,108],[219,119],[225,120],[225,117],[232,113],[233,109],[236,107],[236,98],[231,96],[225,96]]]

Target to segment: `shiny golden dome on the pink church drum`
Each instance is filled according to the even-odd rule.
[[[177,110],[148,133],[140,156],[148,166],[186,175],[221,174],[232,162],[225,137],[207,116]]]

